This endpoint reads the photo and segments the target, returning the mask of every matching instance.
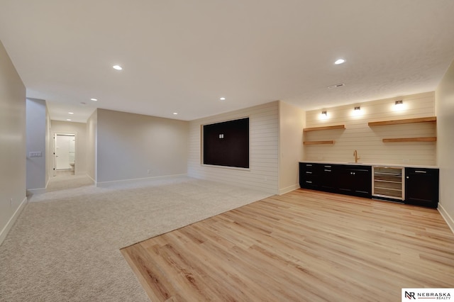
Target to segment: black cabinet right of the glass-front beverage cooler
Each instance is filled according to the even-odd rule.
[[[438,169],[405,168],[405,203],[438,207]]]

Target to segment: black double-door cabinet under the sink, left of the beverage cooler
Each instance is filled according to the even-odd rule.
[[[338,193],[372,197],[372,167],[358,165],[337,165],[336,188]]]

